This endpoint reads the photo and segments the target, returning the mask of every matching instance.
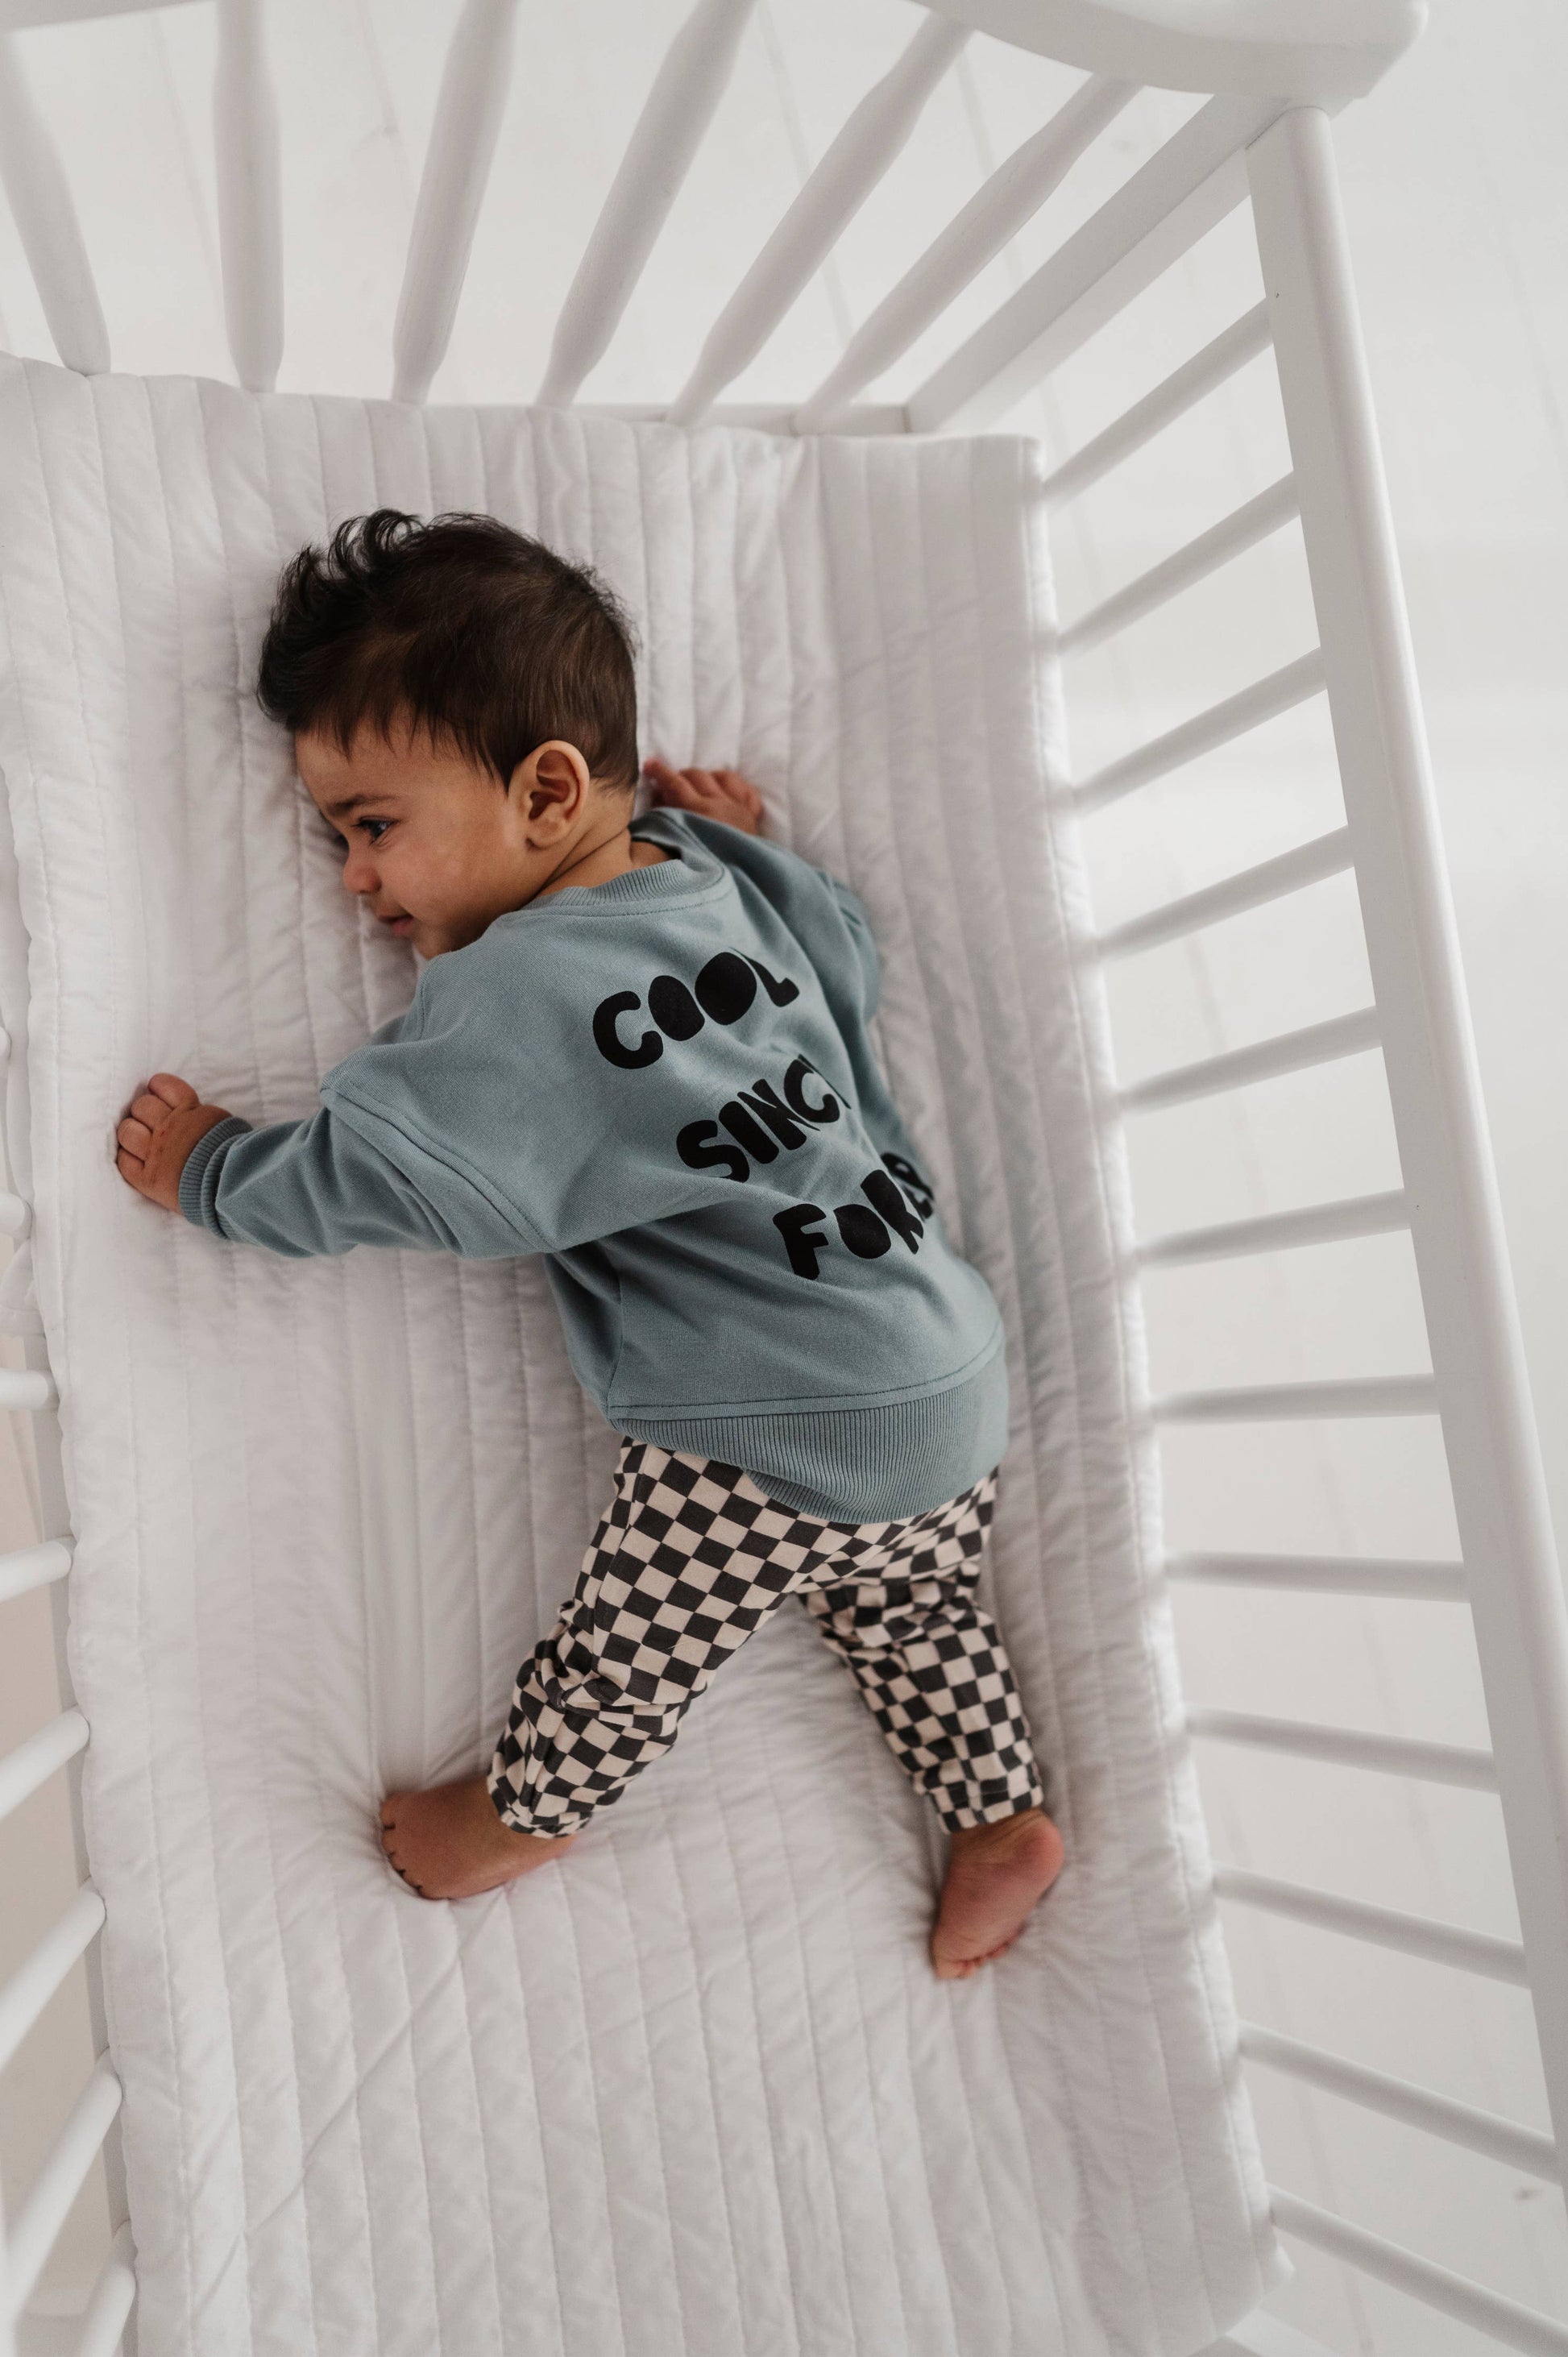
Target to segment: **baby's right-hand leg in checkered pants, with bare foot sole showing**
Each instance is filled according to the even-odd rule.
[[[846,1534],[830,1584],[804,1593],[953,1836],[931,1930],[941,1980],[964,1980],[1012,1947],[1061,1871],[1012,1664],[976,1598],[993,1499],[988,1478],[884,1537]]]

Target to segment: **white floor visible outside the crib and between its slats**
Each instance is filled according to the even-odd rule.
[[[519,398],[608,172],[684,0],[573,0],[519,14],[519,68],[474,266],[436,398]],[[288,141],[285,387],[382,391],[398,262],[455,0],[274,0]],[[672,394],[719,302],[851,99],[915,19],[905,0],[764,0],[726,111],[608,358],[599,401]],[[28,35],[59,125],[116,365],[226,375],[217,288],[207,80],[212,12],[170,7]],[[1448,0],[1417,52],[1337,125],[1372,375],[1455,872],[1504,1211],[1559,1530],[1568,1539],[1568,181],[1561,104],[1568,21],[1551,0]],[[1075,75],[971,42],[896,179],[837,264],[736,387],[809,389],[846,330]],[[1191,99],[1146,94],[1019,252],[962,299],[974,321],[1063,226],[1125,177]],[[1115,408],[1257,299],[1245,217],[1217,231],[1016,424],[1073,448]],[[950,332],[950,330],[948,330]],[[0,207],[0,346],[47,354],[47,330]],[[894,394],[924,375],[922,354]],[[1172,464],[1172,455],[1179,464]],[[1066,514],[1061,603],[1073,613],[1144,570],[1285,469],[1269,363],[1167,436],[1115,488]],[[1311,643],[1294,530],[1089,658],[1070,679],[1080,771]],[[1082,674],[1082,676],[1080,676]],[[722,747],[707,747],[722,757]],[[1193,889],[1337,823],[1318,707],[1094,823],[1101,922]],[[1264,966],[1261,948],[1269,948]],[[1280,955],[1287,950],[1287,955]],[[1353,891],[1318,886],[1238,919],[1200,948],[1115,978],[1129,1077],[1365,997]],[[1219,1124],[1219,1127],[1214,1127]],[[1224,1162],[1214,1148],[1224,1148]],[[1375,1058],[1276,1082],[1247,1101],[1162,1115],[1134,1136],[1146,1233],[1396,1183]],[[1224,1176],[1221,1176],[1224,1169]],[[1160,1388],[1394,1372],[1424,1362],[1419,1301],[1398,1237],[1172,1273],[1151,1287]],[[0,1466],[0,1473],[5,1468]],[[1252,1428],[1238,1445],[1186,1433],[1167,1454],[1172,1544],[1269,1546],[1313,1532],[1325,1553],[1448,1553],[1441,1447],[1422,1421]],[[21,1473],[0,1480],[0,1544],[26,1532]],[[0,1730],[47,1716],[42,1610],[0,1671]],[[1358,1728],[1485,1742],[1469,1617],[1452,1605],[1353,1605],[1177,1591],[1200,1702]],[[1438,1787],[1299,1768],[1212,1749],[1205,1791],[1221,1857],[1516,1933],[1497,1803]],[[68,1890],[54,1794],[7,1829],[0,1869],[26,1869],[35,1921]],[[33,1909],[28,1909],[33,1914]],[[1528,2001],[1233,1912],[1243,2008],[1335,2051],[1544,2126]],[[0,1966],[9,1961],[0,1954]],[[75,2006],[75,2011],[71,2011]],[[85,2065],[80,1994],[52,2008],[7,2077],[0,2159],[14,2201],[59,2119],[61,2072]],[[1530,2178],[1309,2098],[1254,2072],[1273,2180],[1514,2298],[1568,2315],[1561,2197]],[[90,2192],[47,2293],[68,2303],[101,2225]],[[1299,2253],[1280,2317],[1344,2357],[1469,2357],[1485,2343],[1391,2291]]]

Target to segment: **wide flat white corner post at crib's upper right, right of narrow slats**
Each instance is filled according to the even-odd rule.
[[[910,394],[917,434],[983,434],[1247,193],[1245,151],[1283,99],[1210,99]]]

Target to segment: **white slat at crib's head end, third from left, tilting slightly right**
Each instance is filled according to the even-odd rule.
[[[391,328],[394,401],[424,401],[453,337],[512,87],[514,28],[516,0],[465,0],[446,52]]]

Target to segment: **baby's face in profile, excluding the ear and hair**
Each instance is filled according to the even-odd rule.
[[[462,950],[538,891],[526,797],[424,735],[361,728],[349,752],[299,733],[307,792],[347,849],[342,879],[422,957]]]

